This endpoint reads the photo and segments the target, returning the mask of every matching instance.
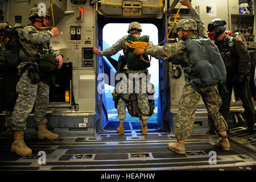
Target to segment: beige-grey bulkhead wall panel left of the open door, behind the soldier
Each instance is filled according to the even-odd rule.
[[[18,25],[27,25],[29,10],[32,7],[38,7],[39,3],[44,3],[52,16],[50,1],[9,1],[8,18],[11,26],[15,24],[15,16],[22,17],[22,21]],[[53,127],[92,127],[93,129],[97,92],[97,63],[96,57],[92,52],[96,31],[94,25],[95,10],[93,6],[90,6],[90,1],[87,1],[85,5],[73,5],[71,1],[53,1],[53,15],[55,26],[59,29],[59,36],[51,39],[51,46],[64,56],[63,63],[72,62],[72,89],[79,109],[75,111],[74,107],[72,109],[71,107],[61,107],[61,105],[58,107],[58,103],[54,103],[56,107],[49,107],[47,112],[50,120],[49,125]],[[5,16],[7,16],[6,12]],[[49,22],[49,26],[53,26],[52,19]],[[57,117],[54,117],[56,114]],[[73,119],[75,116],[84,121],[85,117],[83,115],[90,115],[86,126],[79,125],[79,123],[82,123],[78,121],[79,119],[75,119],[78,121],[76,123]],[[68,119],[68,121],[65,118],[71,119]],[[28,125],[30,125],[29,122]],[[93,132],[90,131],[90,133]]]

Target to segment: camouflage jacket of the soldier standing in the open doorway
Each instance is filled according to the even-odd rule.
[[[127,35],[123,36],[121,39],[119,39],[115,44],[113,44],[112,47],[105,49],[104,51],[100,51],[101,56],[113,56],[115,55],[118,51],[123,49],[123,54],[127,55],[127,46],[125,43],[127,42]],[[150,46],[154,46],[154,44],[149,41],[148,42]],[[125,65],[125,69],[127,69],[127,65]]]

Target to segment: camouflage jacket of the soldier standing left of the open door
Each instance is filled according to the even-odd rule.
[[[20,43],[32,57],[39,57],[40,45],[43,48],[43,51],[40,51],[41,55],[45,53],[51,53],[53,56],[59,55],[59,52],[49,46],[52,36],[54,35],[51,31],[40,30],[33,25],[25,26],[19,30]],[[21,49],[19,56],[20,58],[27,57]]]

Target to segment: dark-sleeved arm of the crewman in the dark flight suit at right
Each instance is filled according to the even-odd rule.
[[[245,75],[250,71],[250,56],[245,44],[240,38],[234,38],[234,47],[237,56],[237,76]]]

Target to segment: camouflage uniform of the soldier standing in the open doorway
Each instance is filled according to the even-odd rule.
[[[130,26],[133,26],[133,24],[130,24]],[[129,30],[130,30],[130,26],[129,26]],[[141,27],[139,27],[138,29],[141,29]],[[131,31],[128,31],[128,32],[131,34],[134,33]],[[117,53],[121,49],[123,49],[123,53],[124,53],[124,55],[126,55],[126,53],[127,53],[127,46],[125,45],[126,42],[127,42],[127,35],[125,35],[121,39],[119,39],[115,44],[113,44],[112,47],[107,48],[104,51],[100,51],[100,55],[101,56],[112,56],[112,55],[115,55],[115,53]],[[150,43],[150,46],[154,46],[154,44],[152,42],[149,42],[149,43]],[[141,73],[147,73],[147,68],[142,69],[142,70],[133,71],[133,70],[130,70],[129,68],[127,68],[127,65],[125,65],[125,67],[123,69],[124,69],[123,73],[125,73],[126,75],[129,73],[133,73],[133,74],[137,73],[138,75],[140,75]],[[129,80],[129,76],[127,75],[127,80],[123,81],[123,84],[129,84],[129,82],[130,82],[130,84],[132,83],[132,81]],[[142,88],[143,88],[143,86],[145,86],[145,88],[146,88],[147,81],[146,82],[139,81],[139,82],[140,82],[139,83],[140,92],[137,93],[137,98],[138,98],[139,109],[141,110],[141,113],[142,113],[140,119],[142,119],[143,121],[146,121],[148,118],[147,115],[149,114],[150,108],[148,105],[147,93],[143,93]],[[128,85],[127,85],[127,88],[128,88]],[[119,89],[122,89],[122,85],[120,86]],[[129,97],[129,93],[122,93],[122,97],[127,100],[127,98]],[[118,110],[118,119],[125,119],[126,118],[126,103],[122,99],[119,99],[119,101],[118,101],[117,110]]]

